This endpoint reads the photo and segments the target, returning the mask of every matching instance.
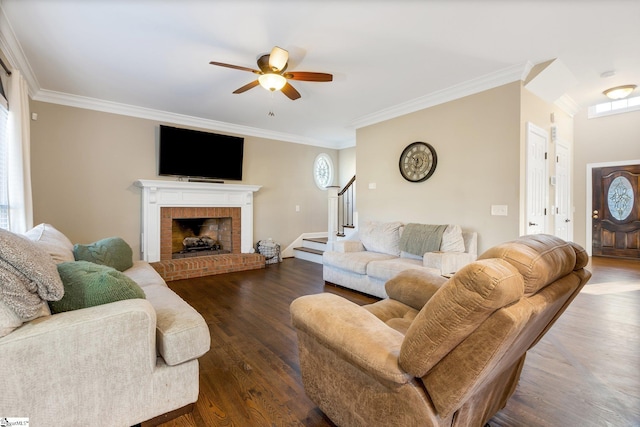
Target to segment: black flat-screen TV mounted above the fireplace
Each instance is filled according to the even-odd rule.
[[[158,174],[242,180],[244,138],[160,125]]]

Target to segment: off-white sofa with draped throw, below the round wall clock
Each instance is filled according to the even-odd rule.
[[[410,226],[416,224],[369,221],[349,240],[334,242],[332,250],[323,254],[324,281],[387,298],[384,284],[401,271],[421,269],[450,275],[478,256],[477,233],[451,224],[446,225],[438,250],[422,256],[407,252],[403,250],[406,248],[402,246],[402,235]]]

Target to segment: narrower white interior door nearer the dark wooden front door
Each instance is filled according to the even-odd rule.
[[[556,144],[555,235],[567,241],[573,240],[570,162],[569,148]]]

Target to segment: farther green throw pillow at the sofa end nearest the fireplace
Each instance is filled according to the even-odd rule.
[[[74,245],[76,261],[90,261],[125,271],[133,266],[131,246],[120,237],[108,237],[89,245]]]

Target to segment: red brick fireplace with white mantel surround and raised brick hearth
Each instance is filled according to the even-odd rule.
[[[135,185],[142,188],[141,255],[165,280],[264,268],[264,257],[253,250],[253,192],[259,186],[157,180]],[[214,249],[185,247],[200,246],[198,239]]]

